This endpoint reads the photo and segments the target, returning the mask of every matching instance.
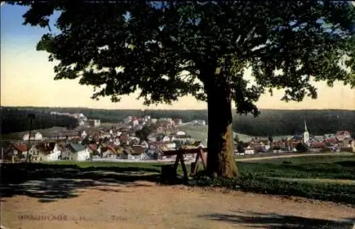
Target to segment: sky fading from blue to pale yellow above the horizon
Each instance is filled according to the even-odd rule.
[[[53,80],[55,63],[48,62],[48,53],[35,50],[36,43],[47,28],[23,26],[22,6],[1,5],[1,106],[90,107],[97,109],[207,109],[206,102],[194,97],[182,97],[173,105],[146,107],[137,95],[122,97],[113,103],[107,98],[90,99],[93,89],[79,85],[78,80]],[[53,28],[53,26],[51,26]],[[355,90],[342,83],[330,88],[317,82],[317,100],[283,102],[282,91],[262,95],[257,105],[261,109],[345,109],[355,110]]]

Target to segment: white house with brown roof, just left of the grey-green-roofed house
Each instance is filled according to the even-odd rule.
[[[36,153],[32,154],[33,161],[57,161],[61,150],[56,142],[40,142],[35,146]]]

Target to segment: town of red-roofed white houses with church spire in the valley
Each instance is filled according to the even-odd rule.
[[[195,139],[180,128],[183,125],[203,126],[204,120],[183,123],[182,119],[127,116],[122,122],[105,125],[99,119],[88,119],[80,113],[51,112],[52,115],[75,117],[75,129],[45,135],[33,131],[22,141],[12,141],[3,151],[3,161],[171,161],[164,151],[204,148],[207,139]],[[355,140],[349,131],[339,130],[314,136],[304,123],[303,134],[297,136],[251,137],[248,142],[234,134],[234,155],[290,154],[303,151],[355,151]],[[188,162],[196,155],[186,155]]]

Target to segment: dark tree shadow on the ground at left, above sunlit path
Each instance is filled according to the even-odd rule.
[[[2,164],[1,197],[38,198],[42,203],[73,198],[83,188],[120,192],[117,186],[145,186],[136,181],[159,182],[160,167],[87,167],[55,164]]]

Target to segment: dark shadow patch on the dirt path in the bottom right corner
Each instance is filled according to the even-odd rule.
[[[317,218],[304,218],[293,215],[262,214],[251,212],[237,212],[232,214],[212,213],[201,215],[202,218],[209,220],[223,221],[238,226],[248,228],[269,228],[269,229],[288,229],[288,228],[329,228],[329,229],[352,229],[355,223],[354,218],[344,220],[324,220]]]

